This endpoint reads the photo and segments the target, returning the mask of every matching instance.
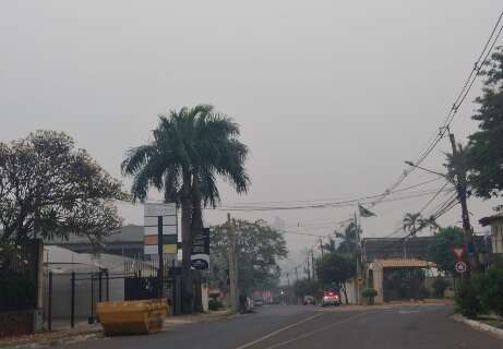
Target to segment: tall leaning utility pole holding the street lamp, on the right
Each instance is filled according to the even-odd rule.
[[[454,137],[454,134],[451,133],[451,131],[448,132],[448,139],[451,140],[451,146],[453,148],[453,159],[456,159],[458,157],[456,140]],[[466,172],[464,172],[464,170],[458,168],[457,166],[454,167],[454,170],[456,171],[457,197],[459,200],[459,203],[462,204],[462,219],[463,219],[463,230],[465,230],[465,241],[467,243],[468,252],[471,252],[469,253],[470,268],[471,270],[478,270],[479,260],[478,260],[477,250],[474,243],[474,231],[471,229],[468,205],[466,203],[466,198],[467,198]]]

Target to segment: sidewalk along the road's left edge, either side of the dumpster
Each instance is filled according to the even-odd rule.
[[[228,310],[214,311],[203,314],[169,316],[164,322],[163,330],[169,330],[173,327],[191,325],[200,322],[231,318],[235,316],[239,315],[230,315]],[[52,332],[0,338],[0,348],[37,348],[103,337],[103,328],[100,324],[88,325],[87,322],[77,322],[74,328],[70,328],[63,322],[55,322],[52,323],[52,327],[55,328]]]

